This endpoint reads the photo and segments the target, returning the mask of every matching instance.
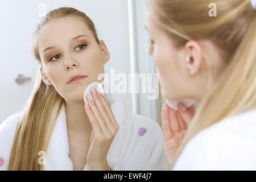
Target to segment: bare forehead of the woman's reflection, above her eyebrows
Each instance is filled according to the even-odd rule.
[[[81,34],[85,34],[89,38],[92,36],[86,23],[77,17],[67,16],[50,20],[38,32],[39,51]]]

